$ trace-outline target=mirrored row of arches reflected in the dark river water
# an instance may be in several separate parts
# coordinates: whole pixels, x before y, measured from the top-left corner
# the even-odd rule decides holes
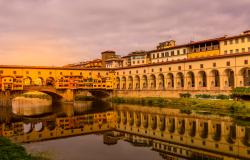
[[[176,118],[166,115],[147,114],[142,112],[117,112],[117,124],[128,128],[144,128],[155,131],[168,132],[170,134],[188,135],[207,139],[211,137],[214,141],[221,141],[222,138],[233,144],[240,137],[244,144],[250,142],[249,128],[245,128],[245,135],[239,134],[234,124],[220,122],[197,121],[196,119]],[[127,128],[126,127],[126,128]],[[132,130],[132,129],[131,129]]]

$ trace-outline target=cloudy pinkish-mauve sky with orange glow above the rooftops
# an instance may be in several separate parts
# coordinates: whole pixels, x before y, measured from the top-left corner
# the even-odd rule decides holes
[[[250,0],[0,0],[0,65],[62,66],[250,29]]]

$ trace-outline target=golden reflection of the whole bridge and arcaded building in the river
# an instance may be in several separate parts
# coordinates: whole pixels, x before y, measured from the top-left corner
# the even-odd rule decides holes
[[[9,120],[0,125],[0,134],[15,142],[33,142],[29,147],[40,144],[35,141],[94,133],[102,135],[103,144],[108,146],[118,147],[122,140],[132,144],[123,146],[126,151],[136,150],[133,146],[143,146],[140,148],[145,153],[150,148],[158,152],[162,159],[250,158],[250,126],[237,125],[230,117],[184,114],[178,109],[157,107],[111,107],[111,104],[102,102],[62,104],[53,106],[52,110],[52,115],[43,117],[22,120],[4,118]],[[78,151],[78,147],[87,141],[92,147],[100,148],[101,145],[94,139],[92,143],[90,140],[79,142],[81,137],[68,141],[75,150],[74,154],[79,157],[90,154],[89,150]],[[57,144],[59,140],[54,141],[53,145],[58,145],[58,148],[67,148],[66,145]],[[42,144],[46,146],[51,143],[46,141]],[[112,151],[115,149],[110,148]],[[115,156],[119,158],[114,153],[107,159],[115,159]],[[128,158],[135,159],[135,156]]]

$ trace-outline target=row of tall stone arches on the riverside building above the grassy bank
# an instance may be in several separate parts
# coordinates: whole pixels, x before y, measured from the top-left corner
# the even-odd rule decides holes
[[[116,89],[173,89],[173,88],[234,88],[235,75],[233,69],[225,69],[220,72],[217,69],[213,69],[210,72],[199,71],[197,73],[188,71],[187,73],[178,72],[168,73],[164,75],[162,73],[156,75],[135,75],[133,76],[122,76],[116,78]],[[250,69],[244,68],[240,71],[239,76],[241,77],[241,86],[250,86]]]

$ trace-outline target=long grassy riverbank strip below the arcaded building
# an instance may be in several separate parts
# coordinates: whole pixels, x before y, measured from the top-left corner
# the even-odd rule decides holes
[[[156,107],[179,108],[182,112],[190,113],[192,110],[203,113],[219,115],[233,115],[250,118],[250,102],[220,99],[197,98],[123,98],[112,97],[109,101],[116,104],[136,104]],[[204,112],[206,111],[206,112]]]

